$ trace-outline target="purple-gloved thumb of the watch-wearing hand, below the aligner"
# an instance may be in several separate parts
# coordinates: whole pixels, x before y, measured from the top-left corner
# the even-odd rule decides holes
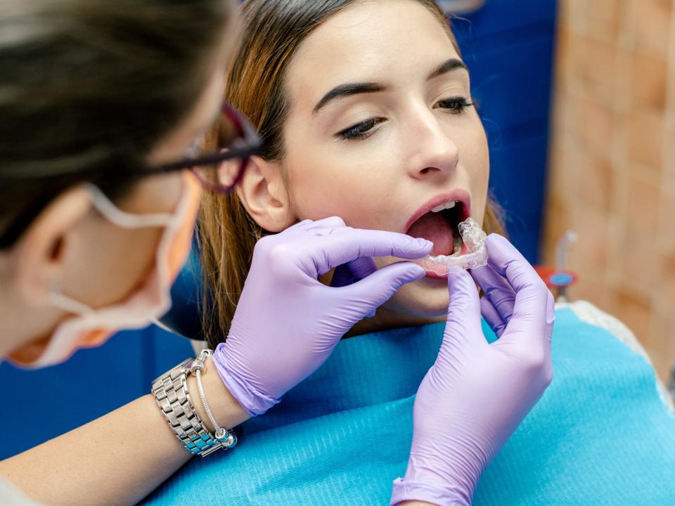
[[[364,318],[373,316],[375,310],[389,300],[400,287],[424,278],[425,274],[424,269],[417,264],[400,261],[384,266],[353,285],[340,288],[340,291],[345,294],[343,300],[352,304],[357,315]]]

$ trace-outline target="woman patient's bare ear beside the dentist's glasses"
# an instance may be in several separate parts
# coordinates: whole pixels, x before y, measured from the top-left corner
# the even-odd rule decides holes
[[[236,188],[248,214],[270,232],[281,232],[296,221],[281,170],[281,162],[251,157]]]

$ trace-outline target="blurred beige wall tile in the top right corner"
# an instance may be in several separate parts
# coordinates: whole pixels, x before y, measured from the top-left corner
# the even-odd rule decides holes
[[[671,0],[633,0],[636,47],[667,58]]]

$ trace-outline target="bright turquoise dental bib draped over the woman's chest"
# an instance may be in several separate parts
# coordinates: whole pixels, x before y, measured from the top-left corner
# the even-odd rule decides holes
[[[239,446],[193,458],[144,504],[388,505],[443,330],[343,340],[281,403],[238,427]],[[485,470],[473,504],[675,505],[675,417],[645,358],[560,309],[553,366],[551,386]]]

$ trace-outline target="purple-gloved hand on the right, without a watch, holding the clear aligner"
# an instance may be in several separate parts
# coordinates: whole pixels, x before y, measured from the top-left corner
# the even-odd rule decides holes
[[[488,265],[448,275],[450,304],[437,360],[413,409],[413,443],[392,505],[418,500],[470,505],[477,481],[551,383],[553,295],[500,235],[486,242]],[[481,308],[499,339],[488,344]]]

